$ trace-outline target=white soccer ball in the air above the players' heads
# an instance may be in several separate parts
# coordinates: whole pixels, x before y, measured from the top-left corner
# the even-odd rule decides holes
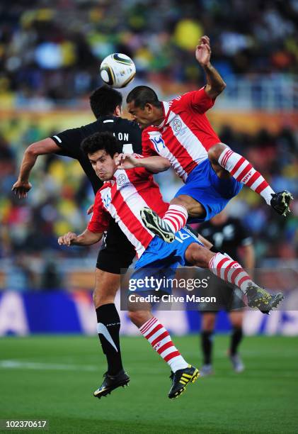
[[[136,69],[130,57],[114,52],[103,59],[100,73],[105,84],[120,89],[134,79]]]

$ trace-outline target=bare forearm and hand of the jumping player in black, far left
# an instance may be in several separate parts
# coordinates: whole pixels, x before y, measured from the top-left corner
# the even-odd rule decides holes
[[[18,194],[20,199],[27,196],[28,191],[32,188],[29,182],[30,172],[35,165],[38,155],[52,154],[59,151],[59,146],[51,138],[45,138],[38,142],[32,143],[25,150],[23,160],[21,162],[20,172],[18,174],[18,181],[13,184],[12,191]]]

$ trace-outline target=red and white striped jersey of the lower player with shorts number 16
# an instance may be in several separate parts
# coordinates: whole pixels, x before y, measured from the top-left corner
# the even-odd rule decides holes
[[[142,155],[133,155],[142,158]],[[160,217],[168,210],[151,172],[143,167],[117,169],[113,179],[105,182],[96,194],[88,230],[104,232],[108,230],[110,218],[115,218],[140,257],[154,238],[154,233],[142,223],[140,211],[144,206]]]

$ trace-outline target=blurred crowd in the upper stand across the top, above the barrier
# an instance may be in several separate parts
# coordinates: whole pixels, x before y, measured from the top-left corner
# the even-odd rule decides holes
[[[205,33],[226,79],[297,74],[297,22],[297,0],[2,0],[1,103],[85,96],[111,52],[130,55],[139,78],[197,87],[194,48]]]

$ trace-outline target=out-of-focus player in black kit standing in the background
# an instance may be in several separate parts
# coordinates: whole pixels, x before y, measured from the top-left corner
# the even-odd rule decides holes
[[[252,238],[239,219],[230,218],[225,211],[222,211],[222,213],[214,216],[211,221],[202,223],[200,233],[213,244],[215,249],[227,253],[236,261],[242,262],[242,265],[252,273],[254,267]],[[212,295],[217,297],[217,307],[229,312],[232,325],[229,358],[234,371],[242,372],[244,365],[238,353],[243,336],[243,310],[241,307],[245,306],[245,304],[242,302],[242,295],[237,295],[233,289],[222,284],[222,281],[219,281],[216,277],[212,279]],[[216,313],[216,311],[202,311],[201,345],[203,365],[200,369],[202,377],[213,372],[212,333],[214,332]]]

